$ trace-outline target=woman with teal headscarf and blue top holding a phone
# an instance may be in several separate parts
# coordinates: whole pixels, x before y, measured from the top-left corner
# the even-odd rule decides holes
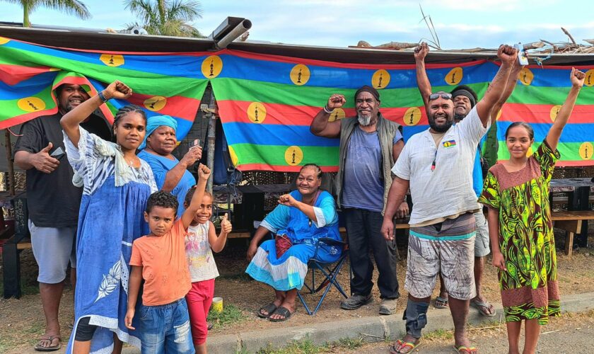
[[[202,157],[202,147],[192,147],[181,161],[177,160],[171,154],[177,147],[176,130],[177,121],[169,115],[149,117],[138,156],[151,166],[157,188],[175,195],[180,202],[177,215],[182,215],[186,192],[196,184],[196,179],[187,169]]]

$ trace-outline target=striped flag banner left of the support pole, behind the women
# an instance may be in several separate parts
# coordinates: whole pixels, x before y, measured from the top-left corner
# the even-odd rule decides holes
[[[152,115],[177,120],[177,137],[192,127],[208,79],[197,63],[206,53],[114,53],[42,47],[0,37],[0,129],[57,113],[54,89],[82,85],[91,96],[120,80],[132,87],[127,100],[101,105],[113,122],[122,105],[139,105]]]

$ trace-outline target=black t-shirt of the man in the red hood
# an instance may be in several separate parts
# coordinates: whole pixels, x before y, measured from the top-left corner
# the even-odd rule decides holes
[[[68,162],[64,148],[64,135],[60,125],[61,113],[44,115],[25,122],[21,126],[15,153],[18,151],[36,154],[53,144],[50,154],[59,147],[64,155],[52,173],[37,169],[27,170],[27,206],[29,219],[37,227],[74,227],[78,222],[78,208],[81,205],[82,188],[72,184],[74,172]],[[107,122],[98,115],[91,115],[81,127],[103,139],[110,139],[111,130]]]

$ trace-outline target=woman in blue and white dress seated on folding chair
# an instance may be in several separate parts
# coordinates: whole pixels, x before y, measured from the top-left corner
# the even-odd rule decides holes
[[[286,321],[296,311],[297,290],[303,287],[308,261],[337,261],[342,247],[322,238],[341,241],[334,198],[320,190],[322,169],[306,164],[299,171],[297,190],[279,198],[279,205],[264,218],[248,249],[248,273],[270,285],[276,293],[274,302],[258,310],[269,321]],[[270,232],[274,239],[258,243]],[[320,241],[322,239],[322,241]]]

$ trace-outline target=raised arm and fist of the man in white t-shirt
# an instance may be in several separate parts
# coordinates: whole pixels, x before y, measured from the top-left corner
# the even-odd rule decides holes
[[[511,68],[514,65],[514,61],[518,59],[518,50],[510,45],[500,45],[497,51],[497,57],[501,59],[501,67],[499,67],[497,74],[487,88],[487,92],[484,93],[484,97],[477,103],[477,113],[479,114],[479,118],[481,118],[483,127],[487,127],[489,124],[491,111],[496,103],[501,100],[503,91],[506,89]]]

